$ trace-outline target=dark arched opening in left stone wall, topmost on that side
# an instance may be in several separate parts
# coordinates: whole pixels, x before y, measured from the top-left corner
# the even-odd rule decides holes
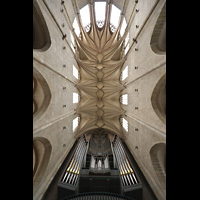
[[[33,49],[46,51],[51,45],[49,31],[36,1],[33,1]]]

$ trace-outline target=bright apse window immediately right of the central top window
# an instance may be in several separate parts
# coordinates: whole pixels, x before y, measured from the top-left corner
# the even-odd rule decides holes
[[[110,28],[112,32],[115,32],[116,28],[118,27],[120,13],[120,9],[112,5],[112,11],[110,16]]]

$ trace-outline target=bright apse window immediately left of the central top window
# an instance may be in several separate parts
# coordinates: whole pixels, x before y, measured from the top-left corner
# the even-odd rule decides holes
[[[90,30],[90,10],[88,5],[80,9],[80,15],[82,25],[85,28],[86,32],[88,32]]]

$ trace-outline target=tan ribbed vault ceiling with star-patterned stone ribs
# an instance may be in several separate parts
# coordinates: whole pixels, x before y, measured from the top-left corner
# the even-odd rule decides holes
[[[106,3],[105,23],[99,28],[95,20],[94,3],[90,2],[90,30],[86,32],[77,21],[80,36],[73,36],[76,46],[76,60],[80,67],[80,80],[76,87],[80,91],[77,114],[80,115],[78,135],[95,128],[104,128],[120,134],[120,116],[124,114],[120,93],[124,86],[120,82],[121,67],[125,61],[123,45],[127,31],[120,36],[124,19],[120,15],[119,25],[113,33],[110,28],[112,3]]]

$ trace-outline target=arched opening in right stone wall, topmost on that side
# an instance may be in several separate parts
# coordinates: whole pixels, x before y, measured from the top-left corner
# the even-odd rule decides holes
[[[166,4],[163,6],[151,37],[151,49],[157,54],[166,52]]]

